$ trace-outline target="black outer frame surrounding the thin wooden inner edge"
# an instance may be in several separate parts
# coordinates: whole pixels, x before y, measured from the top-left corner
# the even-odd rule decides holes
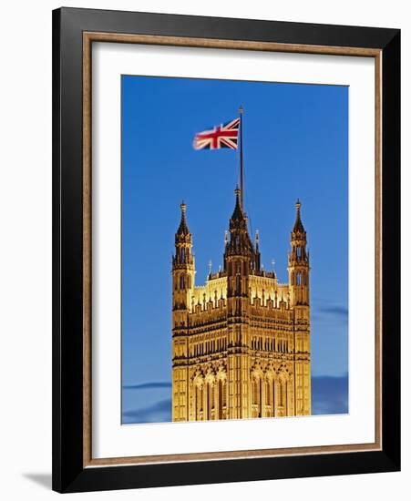
[[[82,32],[383,49],[383,451],[83,468]],[[84,492],[400,468],[400,32],[93,9],[53,11],[53,489]],[[390,291],[388,293],[387,291]]]

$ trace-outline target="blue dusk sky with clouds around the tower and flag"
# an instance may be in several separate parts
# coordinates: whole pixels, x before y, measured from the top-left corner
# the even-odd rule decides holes
[[[244,107],[244,203],[262,263],[287,281],[295,200],[311,257],[313,413],[347,412],[348,87],[123,76],[123,423],[170,420],[170,260],[180,202],[196,283],[222,262],[239,156],[196,132]]]

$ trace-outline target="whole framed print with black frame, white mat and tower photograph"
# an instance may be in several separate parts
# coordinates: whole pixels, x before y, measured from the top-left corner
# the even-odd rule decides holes
[[[53,488],[400,467],[399,30],[53,13]]]

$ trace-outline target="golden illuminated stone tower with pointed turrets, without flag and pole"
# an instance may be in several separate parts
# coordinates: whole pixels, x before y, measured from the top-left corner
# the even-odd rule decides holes
[[[181,204],[172,262],[172,420],[311,414],[309,254],[296,203],[288,283],[263,271],[236,189],[224,265],[195,285]]]

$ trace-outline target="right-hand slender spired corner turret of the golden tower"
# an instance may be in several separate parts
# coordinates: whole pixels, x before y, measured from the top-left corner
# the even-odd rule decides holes
[[[291,232],[291,252],[288,255],[288,276],[291,306],[309,305],[310,262],[307,251],[307,233],[301,220],[301,202],[295,204],[295,222]]]

